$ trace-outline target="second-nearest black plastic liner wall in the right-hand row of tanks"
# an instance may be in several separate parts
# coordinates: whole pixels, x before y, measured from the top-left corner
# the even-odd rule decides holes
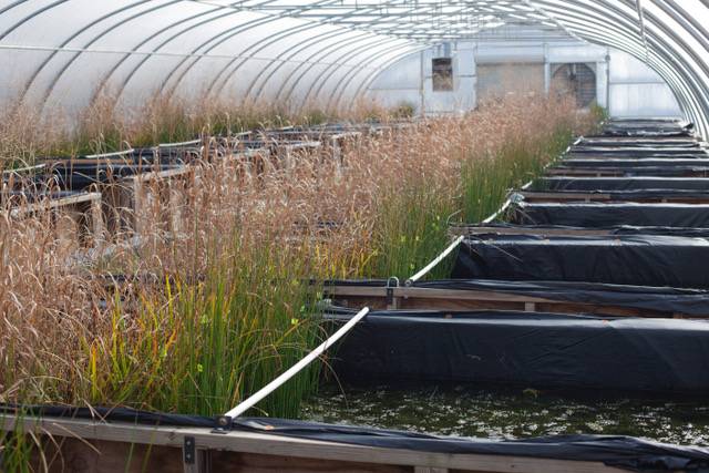
[[[483,235],[461,243],[453,279],[709,288],[706,238]]]

